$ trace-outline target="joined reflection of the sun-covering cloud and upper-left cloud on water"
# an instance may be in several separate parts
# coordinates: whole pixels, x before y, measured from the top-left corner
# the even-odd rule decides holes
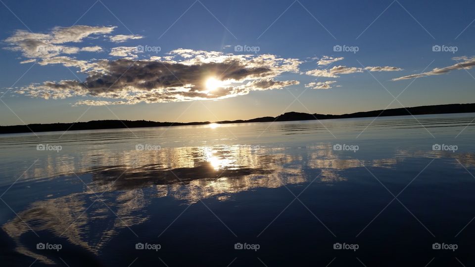
[[[32,230],[65,237],[98,254],[121,229],[149,220],[144,211],[153,198],[173,197],[184,204],[213,196],[224,201],[252,188],[305,182],[302,165],[295,163],[301,157],[283,152],[222,145],[130,150],[120,156],[97,157],[89,151],[76,158],[47,157],[26,174],[27,181],[74,180],[77,175],[88,181],[84,192],[33,202],[2,229],[15,241],[17,252],[45,264],[53,262],[36,253],[33,244],[21,242]]]

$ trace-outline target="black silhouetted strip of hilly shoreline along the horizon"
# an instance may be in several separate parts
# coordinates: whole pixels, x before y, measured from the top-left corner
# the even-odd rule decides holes
[[[285,121],[306,121],[306,120],[329,120],[329,119],[349,119],[366,117],[388,117],[388,116],[407,116],[407,115],[428,115],[428,114],[452,114],[452,113],[471,113],[475,112],[475,103],[472,104],[446,104],[417,106],[410,108],[394,108],[386,110],[373,110],[355,112],[342,115],[331,114],[309,114],[300,112],[287,112],[277,117],[261,117],[250,120],[220,121],[217,124],[230,123],[254,123],[254,122],[285,122]],[[211,122],[153,122],[153,121],[124,121],[124,120],[100,120],[77,123],[52,123],[52,124],[28,124],[0,126],[0,134],[17,133],[40,133],[57,131],[78,131],[78,130],[104,130],[104,129],[122,129],[122,128],[145,128],[145,127],[170,127],[187,125],[207,125]]]

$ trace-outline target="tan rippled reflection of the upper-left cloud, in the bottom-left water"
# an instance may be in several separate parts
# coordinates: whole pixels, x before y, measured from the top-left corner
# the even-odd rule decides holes
[[[45,264],[53,264],[51,259],[36,253],[36,243],[22,242],[22,237],[35,231],[41,236],[66,238],[72,245],[98,254],[121,228],[138,225],[148,216],[142,209],[149,204],[141,189],[130,190],[110,199],[95,194],[75,193],[68,196],[36,201],[5,223],[2,229],[16,244],[15,251],[38,259]],[[108,200],[107,200],[108,199]],[[96,202],[94,202],[96,201]],[[104,201],[105,204],[101,203]],[[107,206],[106,206],[107,205]],[[111,207],[117,216],[114,216]],[[21,218],[21,219],[20,219]],[[47,233],[46,233],[47,232]]]

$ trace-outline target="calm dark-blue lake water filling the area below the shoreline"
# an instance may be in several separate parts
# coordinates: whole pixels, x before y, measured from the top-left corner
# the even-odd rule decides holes
[[[4,134],[1,261],[473,266],[474,117]]]

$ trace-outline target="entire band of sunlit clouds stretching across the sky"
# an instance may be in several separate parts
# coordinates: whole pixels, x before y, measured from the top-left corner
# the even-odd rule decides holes
[[[20,61],[21,64],[60,64],[68,68],[78,68],[81,75],[86,77],[84,81],[79,81],[78,78],[30,84],[17,89],[16,93],[44,99],[79,98],[74,105],[116,105],[216,100],[245,95],[250,91],[282,89],[299,84],[298,81],[280,81],[278,78],[285,73],[299,73],[302,61],[274,54],[235,55],[220,51],[179,48],[163,55],[158,55],[161,49],[157,49],[150,55],[150,51],[144,50],[142,45],[139,45],[142,49],[139,46],[126,45],[104,49],[102,45],[81,44],[85,40],[99,37],[121,44],[144,38],[133,34],[112,35],[115,28],[116,26],[76,25],[55,27],[47,33],[15,31],[4,40],[7,44],[5,49],[20,52],[24,57]],[[80,52],[108,54],[108,57],[85,60],[73,56]],[[318,59],[317,65],[328,66],[343,59],[344,57],[323,56]],[[454,66],[452,67],[457,68]],[[471,65],[467,63],[466,66]],[[434,71],[447,72],[450,68]],[[338,78],[340,75],[364,71],[400,70],[402,69],[390,66],[359,68],[339,65],[329,69],[309,70],[303,74]],[[334,80],[312,82],[305,87],[331,89],[334,83]]]

